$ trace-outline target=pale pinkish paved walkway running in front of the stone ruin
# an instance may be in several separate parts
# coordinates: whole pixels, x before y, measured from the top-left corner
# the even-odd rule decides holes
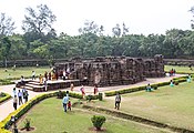
[[[176,74],[175,76],[171,76],[171,78],[147,78],[146,81],[143,81],[143,82],[140,82],[140,83],[136,83],[136,84],[99,88],[99,91],[100,92],[105,92],[105,91],[111,91],[111,90],[122,90],[122,89],[146,85],[147,83],[152,84],[152,83],[166,82],[166,81],[170,81],[170,80],[172,80],[173,78],[176,78],[176,76],[183,76],[183,75]],[[6,92],[6,93],[9,93],[10,95],[12,95],[12,89],[13,88],[14,88],[13,84],[12,85],[2,85],[2,86],[0,86],[0,92]],[[65,90],[70,90],[70,89],[65,89]],[[84,90],[85,90],[86,94],[92,94],[93,93],[93,86],[84,86]],[[74,91],[80,93],[80,86],[75,86]],[[29,92],[29,100],[34,98],[38,94],[49,93],[49,92],[33,92],[33,91],[28,91],[28,92]],[[12,106],[12,99],[1,103],[0,104],[0,121],[6,119],[13,111],[14,111],[14,109]]]

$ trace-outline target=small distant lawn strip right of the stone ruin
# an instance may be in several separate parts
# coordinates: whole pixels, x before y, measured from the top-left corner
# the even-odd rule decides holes
[[[164,71],[169,72],[172,69],[176,70],[176,73],[194,73],[194,68],[193,71],[188,66],[177,66],[177,65],[165,65]]]

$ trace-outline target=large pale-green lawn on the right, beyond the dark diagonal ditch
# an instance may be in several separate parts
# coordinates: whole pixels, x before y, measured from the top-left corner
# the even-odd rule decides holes
[[[121,111],[194,131],[194,81],[122,95]],[[91,103],[114,110],[114,96]]]

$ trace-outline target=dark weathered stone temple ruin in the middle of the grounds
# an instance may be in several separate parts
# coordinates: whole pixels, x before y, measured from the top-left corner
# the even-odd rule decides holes
[[[154,59],[140,59],[130,57],[110,57],[72,59],[63,63],[55,63],[55,69],[70,71],[70,79],[85,81],[86,85],[99,86],[132,84],[145,80],[145,78],[164,76],[163,55]]]

